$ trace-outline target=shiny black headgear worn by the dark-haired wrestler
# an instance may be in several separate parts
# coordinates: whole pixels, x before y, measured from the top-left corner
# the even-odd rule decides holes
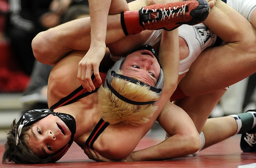
[[[30,110],[26,112],[23,116],[20,117],[20,120],[18,121],[16,125],[16,133],[15,133],[15,138],[16,138],[16,145],[19,143],[19,137],[22,128],[25,126],[32,125],[38,120],[41,120],[42,118],[49,116],[52,114],[53,116],[58,116],[68,127],[68,129],[71,132],[71,137],[69,142],[61,148],[54,156],[52,156],[50,162],[56,162],[58,161],[69,149],[71,144],[73,143],[73,139],[76,133],[76,120],[73,116],[66,114],[66,113],[55,113],[53,112],[52,109],[36,109],[36,110]]]

